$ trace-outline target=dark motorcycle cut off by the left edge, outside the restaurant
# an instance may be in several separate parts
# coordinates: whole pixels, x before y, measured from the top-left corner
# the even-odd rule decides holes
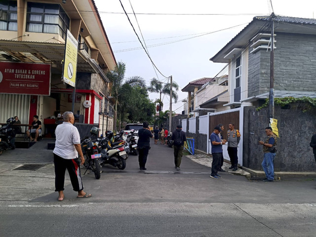
[[[15,130],[12,128],[14,118],[8,118],[6,124],[0,127],[0,155],[8,149],[15,149]]]

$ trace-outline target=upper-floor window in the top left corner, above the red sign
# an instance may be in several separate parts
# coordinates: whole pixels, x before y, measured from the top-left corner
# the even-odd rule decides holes
[[[0,1],[0,30],[1,31],[17,31],[18,30],[18,14],[17,1]]]

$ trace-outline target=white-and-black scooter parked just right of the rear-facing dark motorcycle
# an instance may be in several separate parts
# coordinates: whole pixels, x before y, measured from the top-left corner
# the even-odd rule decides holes
[[[109,131],[112,133],[112,131]],[[123,142],[111,142],[111,133],[99,140],[98,149],[101,154],[101,165],[111,164],[118,169],[125,169],[127,154]]]

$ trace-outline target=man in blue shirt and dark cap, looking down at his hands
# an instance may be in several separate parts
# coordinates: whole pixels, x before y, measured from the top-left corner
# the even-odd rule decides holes
[[[221,128],[219,126],[216,126],[214,127],[214,131],[212,132],[210,136],[213,161],[212,161],[212,171],[209,177],[213,179],[218,179],[219,177],[221,177],[219,174],[217,174],[217,171],[219,170],[221,166],[221,158],[223,155],[222,145],[226,143],[225,141],[221,141],[221,139],[218,136],[218,134],[221,131],[222,131]]]

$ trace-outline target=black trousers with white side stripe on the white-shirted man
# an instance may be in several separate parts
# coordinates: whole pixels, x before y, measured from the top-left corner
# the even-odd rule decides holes
[[[54,154],[55,165],[55,191],[64,191],[65,172],[68,170],[71,184],[74,191],[79,192],[83,190],[83,185],[80,175],[80,162],[78,158],[64,159]]]

